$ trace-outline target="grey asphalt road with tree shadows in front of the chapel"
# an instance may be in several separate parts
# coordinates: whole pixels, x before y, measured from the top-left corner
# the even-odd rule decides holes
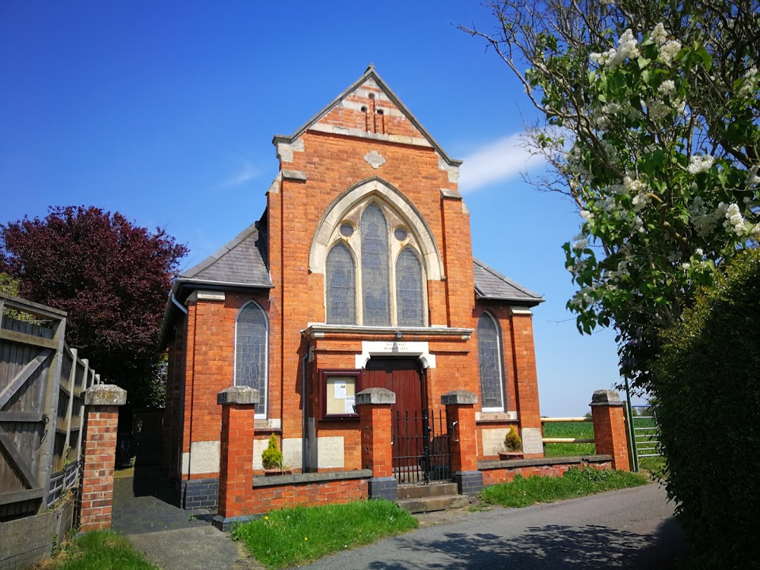
[[[670,568],[686,549],[657,484],[535,505],[425,515],[401,537],[306,568]]]

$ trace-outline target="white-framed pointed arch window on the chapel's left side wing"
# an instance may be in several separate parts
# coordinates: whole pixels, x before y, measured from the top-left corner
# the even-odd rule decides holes
[[[249,301],[240,309],[235,324],[235,385],[258,390],[256,417],[265,417],[267,411],[268,341],[267,315]]]

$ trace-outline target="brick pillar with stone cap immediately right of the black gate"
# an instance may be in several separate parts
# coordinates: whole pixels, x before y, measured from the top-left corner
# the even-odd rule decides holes
[[[441,396],[451,429],[451,470],[461,495],[473,496],[483,489],[483,473],[477,468],[475,404],[477,396],[452,390]]]

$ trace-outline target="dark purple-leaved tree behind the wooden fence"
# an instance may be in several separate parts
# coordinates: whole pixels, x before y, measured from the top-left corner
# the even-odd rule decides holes
[[[161,320],[187,252],[164,230],[97,207],[50,207],[42,219],[0,225],[0,271],[24,298],[66,311],[68,344],[136,406],[163,402]]]

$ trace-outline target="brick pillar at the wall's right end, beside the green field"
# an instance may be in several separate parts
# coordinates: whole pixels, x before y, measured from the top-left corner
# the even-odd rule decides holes
[[[628,436],[619,394],[614,390],[597,390],[591,397],[591,416],[594,418],[594,442],[598,455],[611,455],[613,469],[630,470]]]

